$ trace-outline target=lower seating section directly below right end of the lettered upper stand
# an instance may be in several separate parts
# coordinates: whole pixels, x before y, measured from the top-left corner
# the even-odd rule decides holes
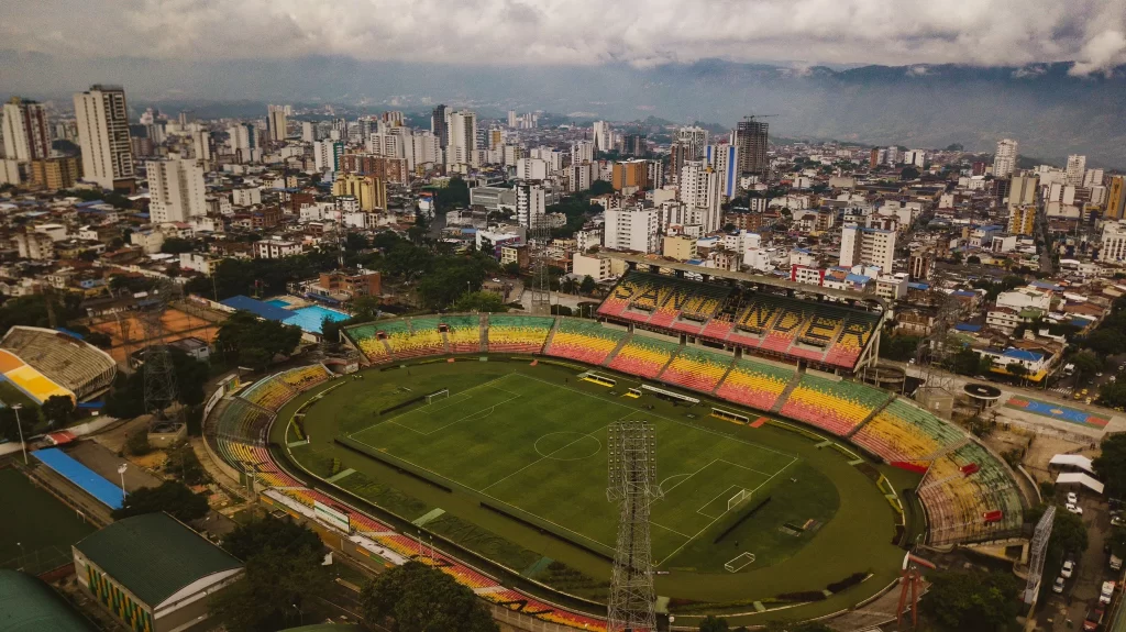
[[[789,394],[781,414],[843,436],[887,398],[886,390],[806,374]]]

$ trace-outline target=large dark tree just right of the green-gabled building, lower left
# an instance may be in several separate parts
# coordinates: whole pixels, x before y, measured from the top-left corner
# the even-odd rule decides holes
[[[232,632],[267,632],[296,624],[305,599],[323,595],[330,584],[322,566],[324,545],[316,534],[292,520],[266,516],[239,525],[223,548],[247,562],[242,579],[211,603]]]

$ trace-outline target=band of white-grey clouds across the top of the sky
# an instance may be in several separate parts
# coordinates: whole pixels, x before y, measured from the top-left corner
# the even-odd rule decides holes
[[[1126,0],[0,0],[0,48],[645,66],[1126,64]]]

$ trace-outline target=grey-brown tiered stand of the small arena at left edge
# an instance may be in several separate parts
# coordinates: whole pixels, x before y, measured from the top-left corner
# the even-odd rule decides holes
[[[109,354],[54,329],[11,327],[0,340],[0,347],[79,399],[108,388],[117,374],[117,364]]]

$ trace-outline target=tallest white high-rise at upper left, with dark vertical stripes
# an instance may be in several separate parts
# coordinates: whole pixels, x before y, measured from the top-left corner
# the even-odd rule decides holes
[[[119,85],[91,85],[74,94],[78,144],[82,148],[82,178],[102,189],[135,187],[128,106]]]

